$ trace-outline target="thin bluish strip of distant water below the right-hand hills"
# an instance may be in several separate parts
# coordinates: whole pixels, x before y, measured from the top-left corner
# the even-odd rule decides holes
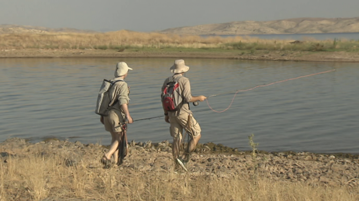
[[[236,35],[221,35],[221,37],[233,37]],[[242,37],[251,37],[259,39],[273,39],[273,40],[359,40],[359,33],[324,33],[324,34],[252,34],[239,35]],[[208,36],[204,36],[208,37]]]

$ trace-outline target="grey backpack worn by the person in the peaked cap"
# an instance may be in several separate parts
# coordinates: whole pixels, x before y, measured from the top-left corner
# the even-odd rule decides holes
[[[96,110],[95,110],[96,114],[101,116],[108,116],[108,111],[115,103],[117,103],[116,100],[111,103],[112,100],[110,98],[109,90],[113,86],[113,84],[118,81],[123,81],[123,80],[116,80],[113,82],[107,79],[103,80],[99,91],[99,95],[97,97]]]

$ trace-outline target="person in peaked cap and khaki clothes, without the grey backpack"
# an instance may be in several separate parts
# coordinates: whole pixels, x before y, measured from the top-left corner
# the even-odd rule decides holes
[[[122,123],[126,120],[129,124],[133,122],[128,111],[129,87],[124,81],[129,70],[132,70],[132,68],[128,67],[125,62],[117,63],[115,77],[109,80],[110,86],[107,88],[107,93],[104,95],[105,98],[108,98],[109,104],[106,104],[105,112],[100,114],[97,113],[101,115],[100,121],[104,124],[105,130],[110,132],[112,136],[110,149],[101,158],[101,162],[105,165],[110,163],[112,155],[114,156],[114,162],[118,163],[118,146],[121,143],[122,135],[124,135]],[[125,150],[125,152],[126,151],[127,150]],[[125,155],[126,154],[127,153],[125,153]]]

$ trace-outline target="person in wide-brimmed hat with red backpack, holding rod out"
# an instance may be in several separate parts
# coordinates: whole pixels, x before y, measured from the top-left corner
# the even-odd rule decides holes
[[[201,138],[201,128],[193,118],[189,109],[189,103],[202,102],[205,96],[192,96],[189,79],[184,77],[184,73],[189,70],[183,59],[175,60],[170,71],[174,75],[168,77],[162,86],[161,100],[165,112],[165,121],[170,123],[170,134],[173,137],[172,154],[180,166],[185,170],[184,163],[188,161],[189,154],[195,149]],[[188,147],[180,155],[180,142],[183,138],[183,129],[188,133],[190,141]]]

